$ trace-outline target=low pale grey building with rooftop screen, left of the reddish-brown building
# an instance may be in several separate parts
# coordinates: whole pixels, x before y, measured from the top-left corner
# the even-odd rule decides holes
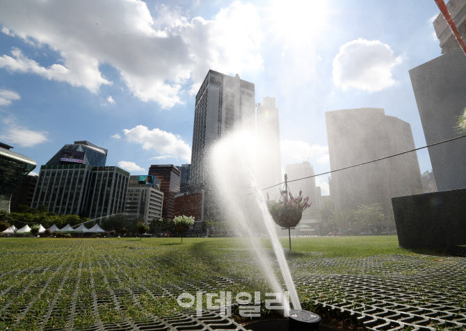
[[[152,178],[147,182],[145,177]],[[154,176],[130,176],[125,206],[127,216],[143,218],[145,222],[162,218],[163,192],[160,186],[161,180]]]

